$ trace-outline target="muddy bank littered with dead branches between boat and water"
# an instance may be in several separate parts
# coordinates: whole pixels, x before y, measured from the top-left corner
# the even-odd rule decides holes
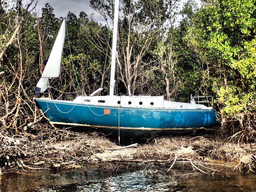
[[[2,131],[0,174],[59,171],[88,164],[104,165],[106,169],[154,166],[156,171],[164,168],[165,172],[186,165],[196,174],[213,174],[233,166],[236,172],[255,173],[255,143],[236,144],[217,135],[155,137],[118,143],[100,133],[67,129],[33,129],[17,135]],[[229,162],[237,162],[237,166]]]

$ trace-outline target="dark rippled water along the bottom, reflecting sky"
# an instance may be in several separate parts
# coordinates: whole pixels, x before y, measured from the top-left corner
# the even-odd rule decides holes
[[[149,170],[154,172],[154,170]],[[174,171],[175,174],[183,174],[184,171]],[[174,173],[173,172],[173,173]],[[81,174],[83,173],[83,174]],[[219,173],[214,176],[199,176],[181,180],[174,174],[147,174],[145,170],[134,170],[113,173],[104,169],[88,169],[87,175],[83,169],[68,170],[62,172],[29,172],[10,173],[0,176],[0,191],[3,192],[59,192],[59,191],[256,191],[256,176],[246,173]],[[228,176],[227,176],[228,175]]]

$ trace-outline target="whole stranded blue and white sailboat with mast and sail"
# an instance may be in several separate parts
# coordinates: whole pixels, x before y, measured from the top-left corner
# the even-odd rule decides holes
[[[155,133],[165,135],[190,132],[196,128],[220,126],[213,108],[199,104],[193,98],[190,103],[182,103],[164,100],[164,96],[114,94],[118,8],[119,1],[116,0],[109,95],[98,96],[102,90],[100,88],[89,96],[77,96],[71,101],[51,97],[36,98],[36,103],[50,122],[107,134],[118,133],[126,138],[144,137]],[[64,36],[65,21],[37,84],[40,93],[49,87],[49,78],[59,76]]]

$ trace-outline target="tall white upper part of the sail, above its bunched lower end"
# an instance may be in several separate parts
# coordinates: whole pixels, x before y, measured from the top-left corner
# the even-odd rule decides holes
[[[42,77],[52,78],[52,77],[58,77],[60,75],[60,63],[61,63],[64,40],[65,40],[65,20],[63,20],[62,22],[60,31],[58,33],[58,36],[56,37],[56,40],[52,47],[51,54],[44,68]]]

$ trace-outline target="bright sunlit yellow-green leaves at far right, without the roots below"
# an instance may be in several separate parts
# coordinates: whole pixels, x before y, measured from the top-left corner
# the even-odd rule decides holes
[[[255,1],[222,0],[215,7],[204,6],[193,30],[193,42],[220,64],[221,78],[214,89],[229,115],[246,112],[255,101],[255,27]]]

